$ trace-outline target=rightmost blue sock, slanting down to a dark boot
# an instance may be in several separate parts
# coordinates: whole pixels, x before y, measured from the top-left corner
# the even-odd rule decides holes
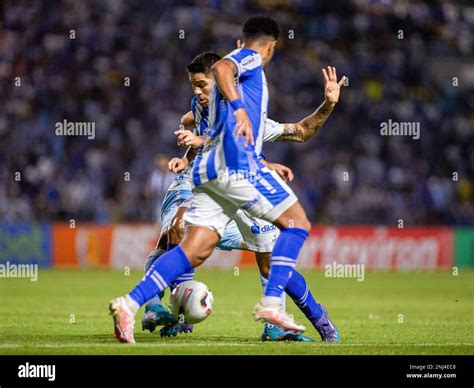
[[[321,318],[323,309],[314,300],[304,277],[298,271],[293,270],[285,291],[313,325]]]

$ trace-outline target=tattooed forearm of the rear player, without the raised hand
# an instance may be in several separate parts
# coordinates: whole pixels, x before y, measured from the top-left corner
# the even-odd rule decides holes
[[[282,135],[275,141],[308,141],[323,126],[333,109],[334,105],[323,102],[318,109],[298,123],[284,124]]]

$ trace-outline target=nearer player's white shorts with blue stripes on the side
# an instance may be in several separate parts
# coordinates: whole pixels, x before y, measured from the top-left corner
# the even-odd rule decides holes
[[[252,180],[236,173],[195,187],[184,220],[189,225],[206,226],[223,236],[228,222],[239,209],[272,223],[297,200],[278,174],[264,167]]]

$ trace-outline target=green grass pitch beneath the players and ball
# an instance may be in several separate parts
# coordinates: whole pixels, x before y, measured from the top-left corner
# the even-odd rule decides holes
[[[140,271],[41,270],[37,282],[0,279],[0,354],[474,354],[472,270],[368,271],[363,282],[303,274],[339,327],[340,344],[319,342],[289,298],[289,312],[318,342],[260,342],[262,324],[251,316],[261,293],[257,270],[203,269],[196,280],[211,288],[215,304],[194,333],[142,332],[141,310],[137,344],[123,345],[113,337],[108,302],[128,292]]]

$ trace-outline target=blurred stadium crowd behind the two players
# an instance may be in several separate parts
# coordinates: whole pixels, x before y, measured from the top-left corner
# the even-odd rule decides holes
[[[7,1],[0,219],[153,221],[165,158],[184,152],[185,65],[230,51],[256,13],[282,30],[269,117],[312,112],[323,66],[349,77],[314,139],[267,147],[313,222],[474,225],[474,7],[396,0]],[[56,136],[64,119],[95,138]],[[389,119],[420,123],[420,139],[381,136]]]

